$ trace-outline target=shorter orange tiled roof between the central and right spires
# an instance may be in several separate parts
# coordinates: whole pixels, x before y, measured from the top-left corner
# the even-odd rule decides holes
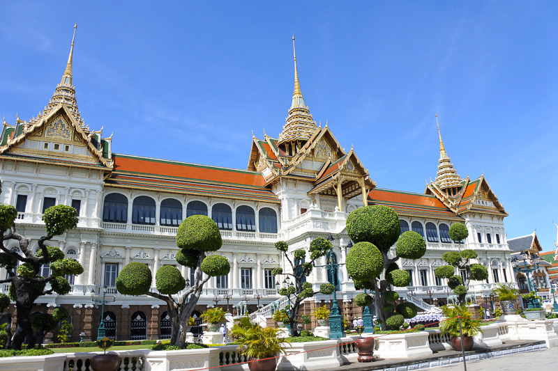
[[[368,205],[386,205],[392,207],[400,216],[418,216],[423,218],[463,221],[438,200],[435,196],[413,192],[393,191],[376,188],[368,194]]]

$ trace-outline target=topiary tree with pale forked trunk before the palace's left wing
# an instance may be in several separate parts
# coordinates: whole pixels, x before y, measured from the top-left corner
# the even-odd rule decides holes
[[[116,277],[116,290],[121,294],[149,295],[165,301],[171,324],[170,345],[182,347],[186,342],[188,320],[202,294],[204,283],[211,277],[224,276],[230,271],[227,258],[207,255],[211,251],[218,251],[222,245],[219,228],[211,218],[204,215],[190,216],[184,219],[176,233],[176,246],[180,248],[176,253],[176,262],[195,269],[194,282],[186,287],[186,280],[180,270],[168,265],[158,269],[155,275],[158,292],[152,292],[149,291],[152,279],[149,267],[130,262]],[[202,272],[206,274],[205,278],[202,278]],[[179,297],[173,296],[185,288],[186,291]]]

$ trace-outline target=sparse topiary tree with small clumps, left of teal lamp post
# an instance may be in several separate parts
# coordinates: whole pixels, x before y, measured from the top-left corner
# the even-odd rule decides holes
[[[289,245],[287,242],[276,242],[275,247],[281,252],[285,261],[290,265],[290,271],[292,273],[283,273],[282,268],[273,269],[271,273],[273,276],[284,274],[287,277],[293,278],[293,282],[289,287],[282,287],[279,290],[279,294],[288,297],[290,302],[285,311],[287,319],[284,322],[289,324],[291,336],[300,336],[296,324],[299,319],[299,310],[302,301],[306,298],[313,297],[318,292],[329,295],[335,290],[331,283],[323,283],[320,285],[319,291],[314,291],[312,289],[312,283],[304,282],[305,278],[312,273],[314,262],[329,253],[333,246],[331,242],[324,237],[317,237],[317,239],[310,242],[310,261],[308,262],[306,262],[306,250],[303,248],[299,248],[293,251],[292,255],[289,255]],[[310,317],[303,316],[303,323],[310,323]]]

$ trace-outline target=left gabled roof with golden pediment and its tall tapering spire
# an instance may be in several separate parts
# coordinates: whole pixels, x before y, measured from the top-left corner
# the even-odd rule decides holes
[[[0,155],[20,157],[29,161],[48,159],[63,164],[75,163],[84,166],[104,166],[112,168],[112,136],[101,138],[103,129],[93,132],[84,125],[80,111],[77,109],[75,87],[72,80],[73,46],[75,30],[70,47],[68,63],[62,75],[61,83],[56,86],[48,106],[31,118],[29,122],[15,120],[9,125],[4,120],[0,137]],[[33,139],[31,139],[33,137]],[[45,141],[56,142],[58,150],[47,148]],[[26,144],[27,143],[27,144]],[[40,148],[40,143],[45,144]],[[66,150],[66,148],[68,150]],[[77,148],[77,151],[71,151]],[[82,150],[85,148],[85,150]]]

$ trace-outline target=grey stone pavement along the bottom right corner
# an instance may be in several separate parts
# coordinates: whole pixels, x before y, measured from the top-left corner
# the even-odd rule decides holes
[[[544,341],[507,341],[497,347],[473,348],[471,351],[465,352],[465,356],[467,371],[558,370],[558,347],[547,349]],[[510,361],[511,357],[513,357],[513,361]],[[516,361],[519,359],[522,361]],[[421,358],[377,359],[371,363],[351,363],[327,370],[410,371],[431,368],[439,368],[444,371],[463,370],[461,352],[446,350]]]

